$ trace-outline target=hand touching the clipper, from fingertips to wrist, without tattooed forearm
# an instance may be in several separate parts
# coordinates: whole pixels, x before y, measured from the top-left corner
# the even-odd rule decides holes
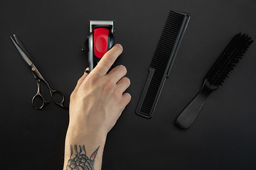
[[[107,135],[131,96],[124,91],[129,87],[127,69],[123,65],[108,70],[122,53],[121,45],[114,45],[92,69],[79,80],[70,96],[69,130],[80,134]]]

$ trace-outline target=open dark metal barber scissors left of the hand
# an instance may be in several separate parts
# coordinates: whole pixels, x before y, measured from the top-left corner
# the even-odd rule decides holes
[[[25,48],[23,47],[21,42],[18,40],[17,36],[14,35],[14,38],[12,38],[10,36],[10,38],[14,42],[14,45],[16,46],[18,52],[21,54],[21,57],[23,58],[23,60],[25,60],[26,64],[28,64],[28,67],[31,69],[33,77],[35,77],[35,79],[36,79],[38,89],[37,89],[36,95],[33,96],[33,98],[32,98],[33,107],[36,109],[41,109],[47,103],[50,103],[50,101],[46,101],[46,99],[43,97],[43,95],[41,94],[41,91],[40,91],[40,82],[43,81],[48,86],[48,89],[50,91],[50,96],[51,96],[53,102],[62,108],[67,108],[67,107],[63,106],[64,94],[61,91],[57,91],[57,90],[50,88],[50,85],[48,84],[48,82],[45,79],[43,79],[42,74],[38,71],[35,64],[33,64],[33,62],[29,59],[28,52],[26,52]],[[55,96],[55,98],[54,98],[54,96]],[[59,102],[59,100],[57,101],[56,96],[62,96],[62,101],[60,101],[60,102]],[[43,102],[41,103],[41,105],[38,106],[38,103],[35,103],[36,98],[42,99]]]

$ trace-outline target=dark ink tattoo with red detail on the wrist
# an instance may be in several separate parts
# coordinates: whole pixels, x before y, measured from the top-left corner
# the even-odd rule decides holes
[[[85,152],[85,145],[82,145],[82,147],[79,145],[79,148],[77,145],[74,145],[73,147],[72,145],[70,145],[71,155],[70,159],[68,159],[67,170],[94,170],[93,164],[95,162],[95,157],[98,149],[99,147],[95,150],[95,152],[92,153],[90,158],[88,158]]]

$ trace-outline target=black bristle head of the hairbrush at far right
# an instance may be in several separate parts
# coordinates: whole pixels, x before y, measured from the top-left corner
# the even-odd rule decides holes
[[[252,38],[248,35],[243,33],[235,35],[206,76],[210,85],[221,86],[224,83],[252,42]]]

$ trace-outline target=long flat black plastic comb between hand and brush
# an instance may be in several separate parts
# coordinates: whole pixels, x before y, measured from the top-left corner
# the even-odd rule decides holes
[[[170,11],[149,66],[142,95],[136,109],[138,115],[151,118],[166,78],[169,77],[178,47],[188,26],[188,13]]]

